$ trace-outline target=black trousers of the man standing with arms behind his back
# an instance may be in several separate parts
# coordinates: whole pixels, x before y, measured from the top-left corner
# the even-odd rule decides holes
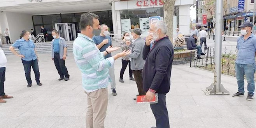
[[[54,64],[61,78],[64,78],[64,76],[69,78],[68,69],[65,66],[65,60],[60,59],[59,53],[54,53]]]

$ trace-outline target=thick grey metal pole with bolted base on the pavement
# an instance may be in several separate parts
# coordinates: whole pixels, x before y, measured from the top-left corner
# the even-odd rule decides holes
[[[210,95],[229,94],[229,92],[221,85],[221,46],[222,46],[222,19],[223,19],[223,0],[216,0],[216,37],[214,45],[214,83],[206,88]]]

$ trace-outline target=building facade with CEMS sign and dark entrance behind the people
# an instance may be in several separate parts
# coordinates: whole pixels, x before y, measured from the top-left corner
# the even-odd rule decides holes
[[[189,34],[189,7],[193,4],[195,0],[175,1],[174,28],[179,27],[184,35]],[[9,28],[11,42],[19,39],[24,29],[40,33],[40,26],[47,29],[47,40],[53,38],[51,31],[57,28],[67,29],[63,34],[77,35],[81,31],[79,19],[84,12],[97,14],[100,23],[107,24],[117,35],[134,27],[146,33],[149,17],[164,18],[163,0],[1,0],[0,33]]]

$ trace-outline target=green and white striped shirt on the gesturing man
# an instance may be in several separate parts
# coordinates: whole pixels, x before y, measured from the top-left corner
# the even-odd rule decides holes
[[[110,80],[109,67],[114,66],[114,58],[104,59],[91,38],[78,33],[73,43],[75,62],[82,72],[82,87],[86,92],[107,88]]]

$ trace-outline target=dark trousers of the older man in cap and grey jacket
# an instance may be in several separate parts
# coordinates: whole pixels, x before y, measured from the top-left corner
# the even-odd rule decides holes
[[[146,92],[144,92],[143,90],[143,84],[142,84],[143,82],[142,69],[138,71],[133,70],[133,75],[134,75],[135,82],[137,84],[139,95],[146,95]]]

